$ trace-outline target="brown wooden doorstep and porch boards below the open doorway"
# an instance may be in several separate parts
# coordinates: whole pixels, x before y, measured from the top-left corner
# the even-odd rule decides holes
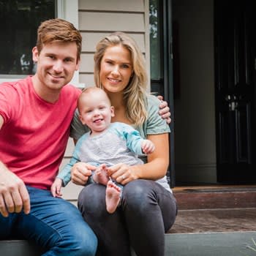
[[[256,186],[176,187],[173,193],[178,216],[168,233],[256,231]]]

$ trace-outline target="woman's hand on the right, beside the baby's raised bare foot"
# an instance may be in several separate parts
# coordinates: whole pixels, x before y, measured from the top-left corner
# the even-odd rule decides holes
[[[135,166],[122,163],[108,167],[108,176],[122,185],[139,178],[136,174]]]

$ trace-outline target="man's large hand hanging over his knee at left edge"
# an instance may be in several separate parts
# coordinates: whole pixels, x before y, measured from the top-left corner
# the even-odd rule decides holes
[[[29,192],[24,182],[0,162],[0,213],[8,217],[22,210],[30,212]]]

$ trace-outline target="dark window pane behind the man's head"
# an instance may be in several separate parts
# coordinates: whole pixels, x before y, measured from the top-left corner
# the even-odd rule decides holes
[[[34,73],[31,49],[42,20],[56,17],[55,0],[0,0],[0,75]]]

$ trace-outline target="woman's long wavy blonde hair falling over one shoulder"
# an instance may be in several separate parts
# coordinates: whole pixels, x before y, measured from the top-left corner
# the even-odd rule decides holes
[[[133,74],[124,89],[124,105],[126,106],[126,117],[129,121],[136,126],[141,126],[147,118],[146,86],[148,78],[143,54],[132,37],[123,32],[115,32],[98,42],[94,53],[94,82],[97,87],[104,89],[99,77],[100,64],[105,50],[115,45],[122,45],[131,53]]]

